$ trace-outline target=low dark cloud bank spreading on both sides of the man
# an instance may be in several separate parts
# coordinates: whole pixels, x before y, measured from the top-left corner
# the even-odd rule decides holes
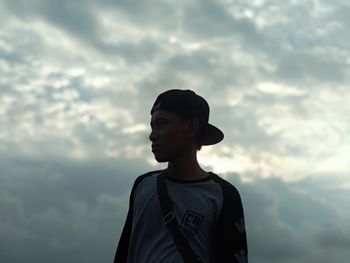
[[[2,158],[1,165],[0,258],[13,262],[111,261],[132,182],[148,167],[141,160],[58,158]],[[350,214],[341,199],[348,190],[339,194],[317,178],[225,178],[241,193],[252,261],[316,262],[334,255],[341,262],[348,256]]]

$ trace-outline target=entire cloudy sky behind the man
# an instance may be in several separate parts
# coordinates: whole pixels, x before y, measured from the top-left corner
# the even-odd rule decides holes
[[[0,262],[112,262],[158,94],[225,138],[252,263],[350,257],[346,0],[0,0]]]

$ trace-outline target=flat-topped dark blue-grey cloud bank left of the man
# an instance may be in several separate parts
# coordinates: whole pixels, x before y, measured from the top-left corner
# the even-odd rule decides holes
[[[147,165],[2,155],[1,167],[1,262],[108,262]]]

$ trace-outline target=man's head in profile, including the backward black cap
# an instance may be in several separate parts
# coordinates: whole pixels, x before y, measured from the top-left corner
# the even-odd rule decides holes
[[[149,139],[152,145],[160,145],[153,150],[158,161],[169,161],[183,151],[200,150],[202,145],[216,144],[224,137],[208,123],[208,103],[191,90],[163,92],[154,102],[151,115]]]

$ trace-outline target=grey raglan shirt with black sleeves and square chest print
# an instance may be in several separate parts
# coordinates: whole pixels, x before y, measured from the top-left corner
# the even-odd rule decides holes
[[[163,221],[160,171],[135,180],[114,263],[184,262]],[[179,228],[202,262],[248,262],[242,202],[232,184],[212,172],[196,180],[166,177],[166,184]]]

